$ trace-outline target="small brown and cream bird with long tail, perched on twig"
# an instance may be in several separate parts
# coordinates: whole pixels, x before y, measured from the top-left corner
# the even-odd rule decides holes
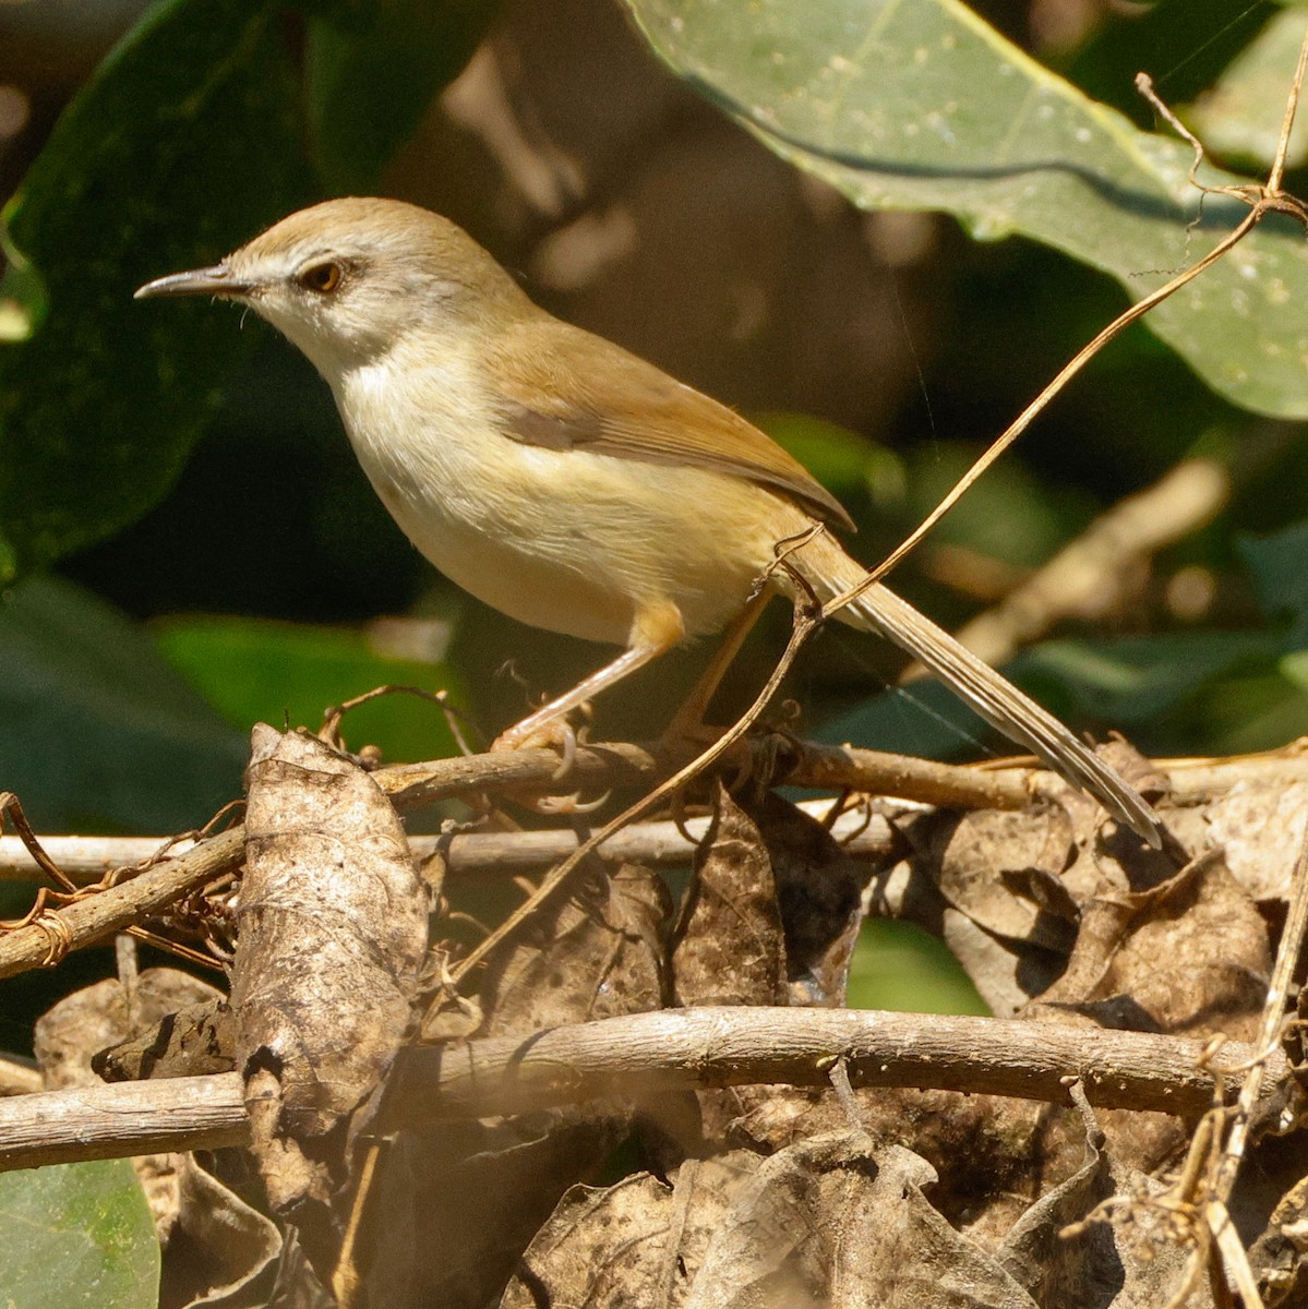
[[[735,410],[539,308],[462,228],[401,200],[300,209],[137,298],[237,301],[331,389],[368,480],[452,581],[621,654],[499,738],[534,744],[674,645],[748,623],[759,579],[829,601],[865,580],[845,508]],[[786,565],[776,567],[780,552]],[[1144,798],[888,586],[835,617],[889,639],[1152,846]]]

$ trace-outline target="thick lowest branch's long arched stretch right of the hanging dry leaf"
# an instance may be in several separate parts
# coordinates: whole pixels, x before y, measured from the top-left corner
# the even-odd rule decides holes
[[[1241,1050],[1244,1047],[1240,1047]],[[1198,1117],[1212,1107],[1202,1041],[1007,1018],[856,1009],[663,1009],[541,1031],[410,1050],[393,1102],[405,1122],[640,1098],[672,1089],[829,1083],[846,1060],[855,1086],[924,1086],[1067,1103],[1076,1077],[1092,1103]],[[1226,1046],[1223,1066],[1237,1066]],[[1233,1097],[1239,1075],[1227,1075]]]

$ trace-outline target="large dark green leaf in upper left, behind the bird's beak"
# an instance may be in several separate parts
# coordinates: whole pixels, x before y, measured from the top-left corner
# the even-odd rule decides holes
[[[492,9],[160,0],[123,38],[3,215],[0,586],[158,501],[255,339],[232,313],[132,291],[211,263],[323,181],[371,187]]]

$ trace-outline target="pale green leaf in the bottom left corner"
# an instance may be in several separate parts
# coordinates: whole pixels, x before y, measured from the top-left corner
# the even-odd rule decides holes
[[[126,1158],[0,1174],[0,1305],[153,1309],[158,1240]]]

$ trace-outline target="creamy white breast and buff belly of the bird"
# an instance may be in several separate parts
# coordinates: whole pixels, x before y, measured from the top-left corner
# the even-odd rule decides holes
[[[699,469],[547,450],[496,431],[475,361],[355,369],[334,386],[368,479],[443,573],[536,627],[625,644],[643,606],[716,631],[772,558],[761,488]],[[748,509],[741,521],[742,490]],[[724,524],[715,503],[731,500]],[[757,521],[755,521],[757,520]]]

